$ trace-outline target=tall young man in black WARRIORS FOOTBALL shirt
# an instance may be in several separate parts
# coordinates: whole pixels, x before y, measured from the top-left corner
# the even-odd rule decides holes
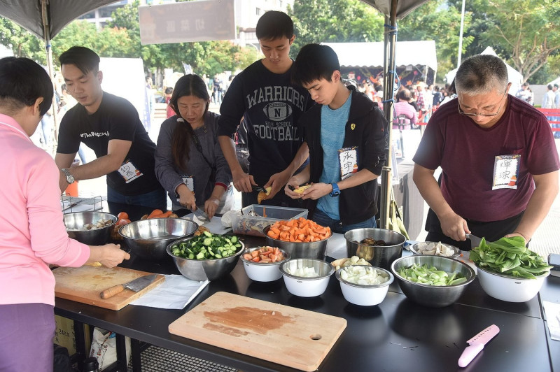
[[[271,187],[263,204],[299,207],[281,191],[288,179],[307,164],[309,150],[298,122],[312,104],[304,87],[293,85],[289,57],[295,35],[283,12],[270,10],[258,20],[256,34],[265,58],[233,79],[220,106],[218,141],[232,171],[233,185],[242,192],[243,206],[258,202],[252,186]],[[237,160],[232,136],[241,117],[247,128],[248,172]]]

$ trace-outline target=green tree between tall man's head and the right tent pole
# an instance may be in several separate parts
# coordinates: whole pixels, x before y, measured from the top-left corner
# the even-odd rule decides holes
[[[308,43],[383,40],[384,16],[358,0],[295,1],[288,15],[295,29],[293,56]]]

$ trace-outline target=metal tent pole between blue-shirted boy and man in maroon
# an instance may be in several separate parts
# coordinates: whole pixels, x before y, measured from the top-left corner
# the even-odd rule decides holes
[[[381,171],[381,206],[380,206],[380,227],[388,229],[390,216],[389,207],[391,206],[391,187],[393,187],[391,168],[391,152],[393,139],[391,132],[393,129],[393,86],[395,84],[395,40],[397,36],[397,3],[398,0],[391,1],[391,15],[385,16],[385,59],[384,59],[384,103],[383,109],[387,120],[388,149],[387,164]]]

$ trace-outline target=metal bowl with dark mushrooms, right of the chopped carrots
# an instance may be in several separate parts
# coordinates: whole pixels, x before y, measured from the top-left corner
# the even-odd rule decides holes
[[[346,231],[347,257],[358,256],[372,264],[372,266],[389,270],[395,259],[402,255],[402,245],[407,238],[393,230],[363,228]],[[376,241],[382,240],[387,245],[365,245],[359,243],[365,238],[374,238]],[[356,243],[358,242],[358,243]]]

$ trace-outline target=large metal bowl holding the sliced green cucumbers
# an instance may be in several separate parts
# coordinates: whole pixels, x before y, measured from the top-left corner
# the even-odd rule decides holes
[[[190,280],[218,280],[225,275],[228,275],[237,265],[239,256],[245,250],[245,245],[242,241],[241,248],[238,248],[235,255],[225,258],[218,259],[188,259],[183,257],[177,257],[171,252],[172,246],[176,244],[181,244],[185,241],[190,241],[193,237],[181,239],[179,241],[174,241],[167,245],[167,255],[173,258],[177,269],[183,274],[187,279]]]

